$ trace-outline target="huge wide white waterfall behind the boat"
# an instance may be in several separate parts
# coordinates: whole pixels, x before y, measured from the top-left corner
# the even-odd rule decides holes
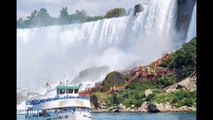
[[[17,84],[72,80],[84,69],[149,64],[174,50],[176,0],[152,0],[138,16],[17,29]]]

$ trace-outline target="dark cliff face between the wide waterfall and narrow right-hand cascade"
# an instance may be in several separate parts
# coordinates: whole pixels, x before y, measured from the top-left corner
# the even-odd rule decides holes
[[[178,40],[185,42],[196,0],[178,0],[177,3],[176,28],[179,34]]]

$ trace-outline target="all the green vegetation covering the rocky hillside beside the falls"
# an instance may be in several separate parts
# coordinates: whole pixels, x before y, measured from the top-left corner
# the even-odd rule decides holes
[[[161,64],[161,67],[174,68],[175,73],[163,74],[159,77],[148,79],[134,79],[125,90],[114,94],[106,94],[112,86],[125,84],[131,75],[124,75],[119,72],[109,73],[103,80],[100,91],[92,96],[104,101],[108,108],[116,107],[119,104],[129,108],[139,108],[143,103],[169,103],[171,106],[180,108],[182,106],[196,107],[196,90],[180,89],[167,93],[164,88],[171,86],[189,77],[196,70],[196,38],[183,45],[182,48],[172,53],[170,58]],[[147,94],[147,90],[151,93]]]

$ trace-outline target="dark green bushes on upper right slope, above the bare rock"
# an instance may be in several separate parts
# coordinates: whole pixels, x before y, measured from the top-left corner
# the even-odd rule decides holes
[[[177,79],[180,81],[190,76],[196,70],[196,37],[177,50],[169,59],[162,63],[162,67],[175,68]]]

